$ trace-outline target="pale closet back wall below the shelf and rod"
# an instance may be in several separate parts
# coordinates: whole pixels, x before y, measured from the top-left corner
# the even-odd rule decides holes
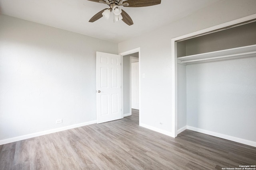
[[[256,142],[256,55],[186,68],[187,125]]]

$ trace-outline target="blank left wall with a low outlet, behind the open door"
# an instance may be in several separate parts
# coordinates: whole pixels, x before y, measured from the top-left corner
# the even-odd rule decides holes
[[[95,121],[96,51],[118,45],[0,15],[0,142]]]

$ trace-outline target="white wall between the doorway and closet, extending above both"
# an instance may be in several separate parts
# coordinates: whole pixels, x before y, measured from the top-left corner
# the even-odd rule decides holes
[[[141,78],[141,125],[167,135],[173,134],[171,39],[255,14],[255,7],[255,0],[216,2],[164,27],[118,44],[119,53],[137,47],[141,49],[140,74],[145,74],[145,78]]]

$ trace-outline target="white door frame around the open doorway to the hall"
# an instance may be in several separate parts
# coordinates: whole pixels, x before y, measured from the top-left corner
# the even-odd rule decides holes
[[[140,90],[140,47],[136,48],[136,49],[131,49],[131,50],[128,50],[128,51],[124,51],[122,53],[119,53],[118,55],[121,55],[121,61],[123,63],[123,57],[122,56],[125,56],[125,55],[130,55],[130,54],[133,54],[133,53],[139,53],[139,90]],[[131,65],[131,64],[130,64]],[[122,67],[121,67],[121,83],[122,83],[122,86],[124,86],[124,79],[123,79],[123,64],[122,64]],[[131,77],[131,76],[130,76]],[[130,82],[131,83],[131,82]],[[122,103],[124,101],[124,95],[123,95],[123,88],[122,88]],[[132,114],[132,102],[131,102],[131,90],[130,90],[130,113]],[[139,103],[141,103],[140,101],[140,92],[139,92]],[[122,105],[122,108],[124,108],[124,106]],[[139,106],[139,110],[140,110],[140,106]],[[122,114],[123,114],[123,117],[124,117],[124,111],[122,111]],[[140,115],[139,114],[139,125],[140,125]]]

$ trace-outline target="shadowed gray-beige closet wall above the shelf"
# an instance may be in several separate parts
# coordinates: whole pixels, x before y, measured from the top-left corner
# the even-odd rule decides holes
[[[256,21],[177,43],[178,57],[256,44]],[[184,48],[186,54],[184,54]]]

